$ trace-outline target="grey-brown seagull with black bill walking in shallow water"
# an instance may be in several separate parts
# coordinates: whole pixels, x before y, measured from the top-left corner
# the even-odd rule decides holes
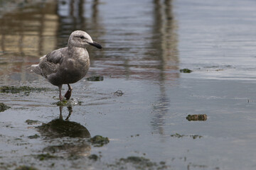
[[[102,45],[93,41],[85,31],[75,30],[70,34],[68,47],[44,55],[38,64],[31,65],[31,71],[40,74],[51,84],[58,86],[60,101],[63,101],[62,86],[68,84],[65,98],[69,100],[73,90],[70,84],[85,77],[90,67],[90,58],[86,50],[89,45],[102,49]]]

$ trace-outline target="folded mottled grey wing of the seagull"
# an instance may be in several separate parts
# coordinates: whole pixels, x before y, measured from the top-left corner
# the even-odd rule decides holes
[[[68,51],[67,47],[60,48],[50,52],[48,55],[41,57],[39,64],[33,64],[31,66],[33,72],[41,74],[47,79],[50,74],[58,71],[60,64],[63,62],[65,53],[67,53],[66,51]]]

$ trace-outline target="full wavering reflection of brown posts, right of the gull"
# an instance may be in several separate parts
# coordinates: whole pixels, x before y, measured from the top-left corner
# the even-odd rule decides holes
[[[151,58],[159,60],[159,97],[154,103],[151,125],[156,132],[164,135],[165,115],[169,113],[170,99],[166,95],[166,79],[176,79],[178,70],[176,21],[171,6],[172,1],[154,0],[154,25],[152,33],[151,51],[147,53]]]

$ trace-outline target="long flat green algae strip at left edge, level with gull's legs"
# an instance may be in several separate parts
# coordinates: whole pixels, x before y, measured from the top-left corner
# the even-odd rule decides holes
[[[21,92],[31,92],[31,91],[50,91],[48,88],[40,88],[40,87],[31,87],[31,86],[1,86],[0,92],[1,93],[11,93],[17,94]]]

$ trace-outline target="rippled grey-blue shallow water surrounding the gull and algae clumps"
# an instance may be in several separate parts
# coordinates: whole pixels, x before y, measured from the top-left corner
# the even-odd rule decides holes
[[[139,169],[119,164],[131,156],[157,164],[142,169],[255,169],[255,1],[4,5],[11,10],[0,12],[1,85],[50,90],[1,94],[11,106],[0,113],[1,169]],[[59,118],[58,88],[28,67],[65,46],[73,30],[86,30],[104,47],[90,47],[86,76],[104,80],[73,84],[80,104],[63,107],[62,116],[71,114],[66,127],[74,132],[78,126],[109,137],[102,147],[36,128]],[[179,71],[185,68],[193,72]],[[196,114],[207,120],[186,119]],[[47,153],[55,158],[38,159]],[[88,158],[93,154],[97,161]]]

